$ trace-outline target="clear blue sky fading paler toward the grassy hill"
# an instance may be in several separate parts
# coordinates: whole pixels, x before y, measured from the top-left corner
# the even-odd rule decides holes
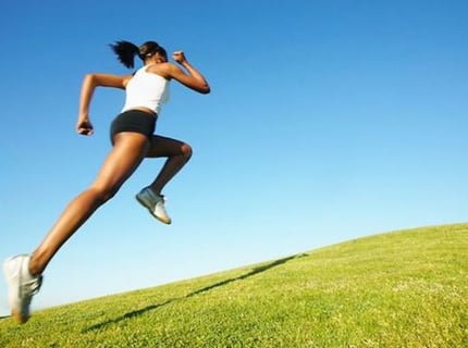
[[[183,49],[212,87],[173,83],[158,121],[195,150],[164,191],[173,224],[134,199],[162,164],[147,161],[52,260],[34,309],[468,221],[467,17],[465,0],[3,3],[0,258],[34,250],[100,167],[123,94],[96,92],[90,138],[78,94],[88,72],[127,73],[119,39]]]

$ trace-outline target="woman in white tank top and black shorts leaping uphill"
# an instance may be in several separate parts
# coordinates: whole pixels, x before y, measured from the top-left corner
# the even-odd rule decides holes
[[[93,134],[89,104],[96,87],[125,89],[125,104],[111,124],[112,150],[95,182],[69,203],[30,256],[16,256],[3,264],[11,312],[19,323],[28,320],[30,300],[40,288],[41,274],[60,247],[116,194],[145,158],[168,159],[156,179],[141,189],[136,199],[155,217],[165,224],[171,223],[161,190],[187,163],[192,148],[183,141],[153,135],[158,113],[161,104],[168,100],[171,79],[200,94],[209,94],[210,87],[182,51],[174,52],[172,57],[181,69],[168,62],[165,50],[155,41],[147,41],[140,47],[128,41],[118,41],[111,48],[125,66],[134,66],[135,55],[141,59],[144,66],[126,76],[88,74],[83,82],[76,123],[78,134]]]

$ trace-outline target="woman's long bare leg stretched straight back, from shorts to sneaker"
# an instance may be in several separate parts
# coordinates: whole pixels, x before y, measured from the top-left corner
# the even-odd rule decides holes
[[[114,147],[95,182],[69,203],[34,251],[29,262],[32,274],[41,274],[60,247],[100,206],[116,194],[145,158],[148,149],[148,139],[141,134],[119,133],[115,135]]]

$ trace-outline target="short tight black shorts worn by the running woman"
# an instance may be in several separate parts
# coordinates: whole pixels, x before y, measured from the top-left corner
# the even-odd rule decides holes
[[[135,132],[150,138],[155,133],[156,119],[156,115],[139,110],[122,112],[112,121],[110,130],[111,142],[113,144],[114,135],[121,132]]]

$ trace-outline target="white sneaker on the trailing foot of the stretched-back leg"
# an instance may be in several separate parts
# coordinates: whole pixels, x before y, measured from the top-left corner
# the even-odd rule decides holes
[[[9,291],[11,314],[20,324],[29,319],[29,306],[33,296],[39,291],[42,276],[29,273],[29,256],[20,254],[7,259],[3,263]]]

